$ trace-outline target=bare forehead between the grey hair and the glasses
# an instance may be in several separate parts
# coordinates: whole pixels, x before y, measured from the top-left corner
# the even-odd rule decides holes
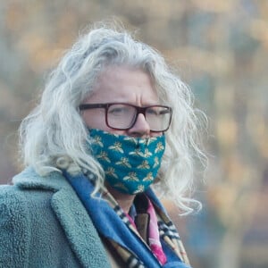
[[[128,102],[155,104],[158,96],[147,72],[123,66],[110,66],[103,71],[88,97],[90,102]]]

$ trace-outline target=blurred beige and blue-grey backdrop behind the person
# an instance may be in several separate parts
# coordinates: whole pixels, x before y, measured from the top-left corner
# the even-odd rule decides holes
[[[209,118],[199,214],[167,203],[195,268],[268,267],[268,1],[2,0],[0,183],[21,171],[17,129],[88,24],[121,20],[176,66]]]

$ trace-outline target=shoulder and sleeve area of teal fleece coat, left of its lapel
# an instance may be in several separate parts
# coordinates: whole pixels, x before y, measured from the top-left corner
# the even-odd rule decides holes
[[[39,178],[33,187],[19,177],[14,185],[0,186],[0,267],[78,267],[51,208],[55,186],[42,188],[37,183],[46,179]]]

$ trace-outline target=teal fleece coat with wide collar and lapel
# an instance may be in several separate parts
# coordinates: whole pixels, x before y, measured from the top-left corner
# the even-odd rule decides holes
[[[105,248],[59,172],[28,168],[0,186],[0,267],[110,267]]]

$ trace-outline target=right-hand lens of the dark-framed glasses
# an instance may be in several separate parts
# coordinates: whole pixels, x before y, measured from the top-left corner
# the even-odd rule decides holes
[[[171,109],[163,106],[151,106],[146,110],[147,123],[152,131],[167,130],[171,121]]]

